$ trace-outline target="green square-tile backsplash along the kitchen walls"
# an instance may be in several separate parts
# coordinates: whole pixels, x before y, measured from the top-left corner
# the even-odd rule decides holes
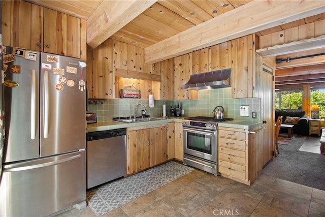
[[[113,117],[133,116],[134,107],[142,103],[151,117],[160,117],[163,115],[163,105],[166,102],[166,114],[170,116],[171,106],[180,104],[184,109],[184,117],[190,116],[211,116],[212,110],[216,106],[224,108],[224,117],[231,117],[237,120],[256,120],[260,119],[260,99],[245,98],[233,99],[231,87],[221,89],[199,90],[198,100],[154,100],[154,108],[149,108],[148,99],[107,99],[102,101],[90,100],[88,112],[95,112],[98,121],[112,120]],[[98,103],[98,104],[95,104]],[[249,106],[249,116],[240,116],[240,106]],[[137,115],[141,115],[142,106],[137,107]],[[251,118],[251,112],[256,111],[257,118]]]

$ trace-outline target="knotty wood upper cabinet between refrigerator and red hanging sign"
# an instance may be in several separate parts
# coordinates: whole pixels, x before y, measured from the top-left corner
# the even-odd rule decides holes
[[[87,88],[89,98],[115,98],[113,41],[107,39],[87,55]]]

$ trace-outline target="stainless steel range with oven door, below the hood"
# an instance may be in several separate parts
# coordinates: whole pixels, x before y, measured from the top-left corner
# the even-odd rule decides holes
[[[233,118],[189,117],[182,122],[184,164],[217,175],[218,122]]]

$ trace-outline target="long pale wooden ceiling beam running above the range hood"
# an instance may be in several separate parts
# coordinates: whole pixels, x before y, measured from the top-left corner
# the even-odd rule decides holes
[[[253,1],[145,48],[155,63],[303,19],[325,10],[323,1]]]

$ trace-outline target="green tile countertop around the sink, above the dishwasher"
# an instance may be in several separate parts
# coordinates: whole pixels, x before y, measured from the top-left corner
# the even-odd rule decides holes
[[[164,119],[162,117],[153,117],[159,120],[151,120],[151,121],[143,121],[136,123],[123,123],[117,120],[109,120],[109,121],[101,121],[97,123],[88,123],[86,132],[95,132],[95,131],[105,131],[105,130],[113,130],[120,128],[131,128],[137,126],[145,126],[145,125],[154,125],[157,123],[169,123],[169,122],[182,122],[182,120],[186,117],[168,117]]]

